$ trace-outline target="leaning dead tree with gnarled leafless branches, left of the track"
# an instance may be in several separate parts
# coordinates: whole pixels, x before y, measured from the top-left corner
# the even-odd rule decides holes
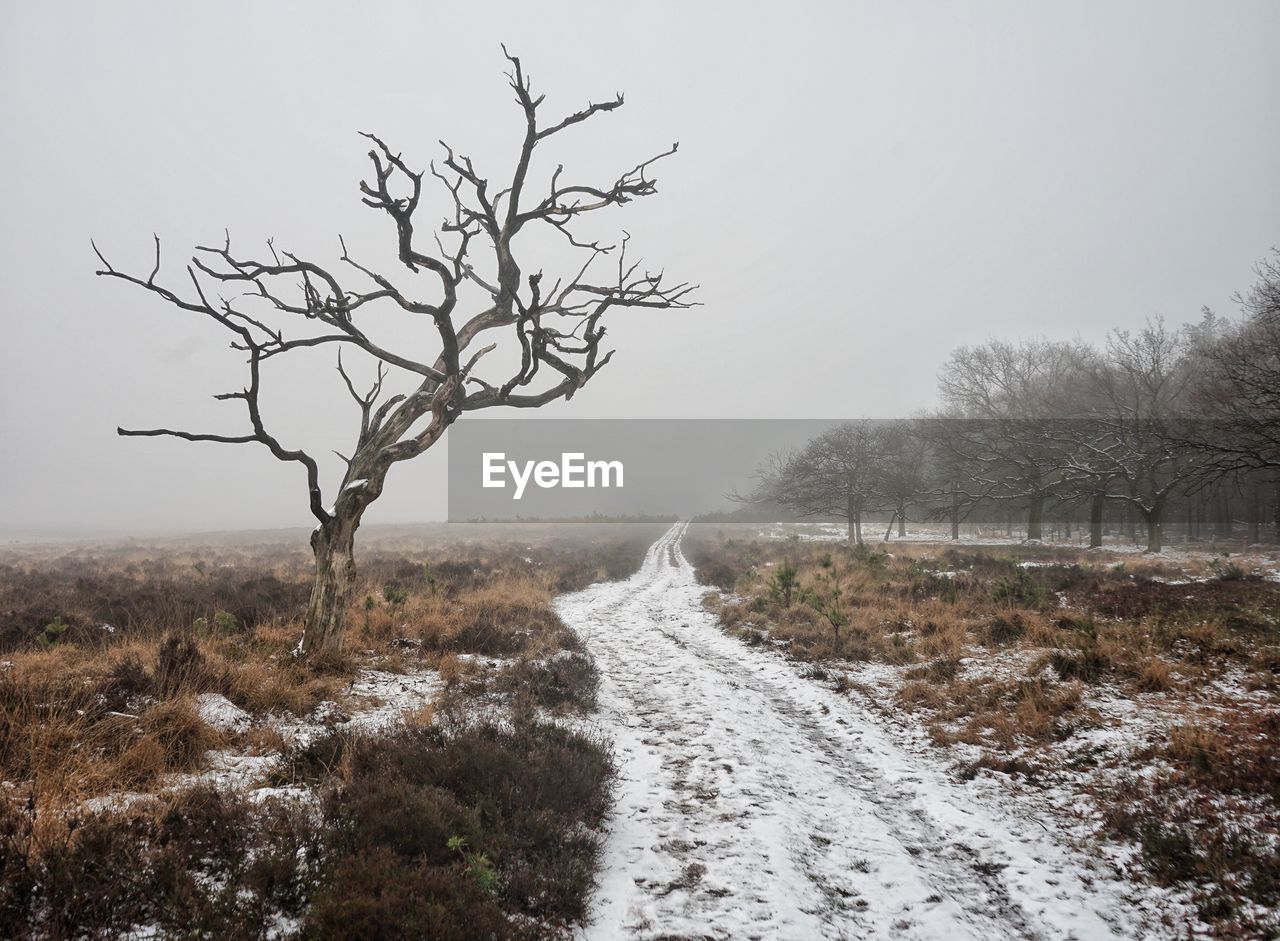
[[[520,59],[503,47],[511,88],[520,106],[524,140],[509,179],[493,186],[477,164],[443,141],[443,160],[428,172],[416,170],[381,138],[365,133],[371,175],[360,183],[366,206],[385,213],[396,227],[399,264],[413,275],[429,275],[426,297],[399,287],[392,278],[357,261],[339,237],[340,268],[321,266],[276,250],[268,241],[262,257],[233,251],[230,237],[221,245],[197,246],[187,265],[189,287],[161,283],[160,239],[155,264],[140,277],[116,270],[93,246],[101,261],[96,274],[140,287],[166,303],[207,316],[232,334],[232,347],[244,353],[248,382],[238,390],[215,396],[244,403],[248,430],[241,434],[192,433],[168,428],[118,429],[122,435],[173,437],[193,442],[262,444],[279,461],[306,472],[307,499],[319,521],[312,536],[316,572],[300,652],[314,654],[342,643],[343,618],[356,579],[355,534],[369,506],[383,493],[387,472],[435,444],[463,412],[493,407],[535,408],[571,398],[608,362],[603,348],[603,318],[613,309],[684,309],[692,306],[694,287],[669,284],[627,256],[627,237],[617,245],[586,241],[576,232],[580,216],[653,196],[653,165],[676,152],[677,145],[643,160],[604,183],[570,183],[563,165],[535,192],[530,166],[538,147],[563,132],[622,106],[617,95],[558,120],[541,119],[544,96],[534,96]],[[434,233],[433,247],[417,237],[424,182],[430,174],[448,205],[448,215]],[[552,282],[541,270],[525,273],[517,255],[517,236],[550,230],[581,253],[581,264]],[[447,245],[448,243],[448,245]],[[492,270],[480,271],[484,246]],[[492,255],[490,255],[492,252]],[[616,259],[604,264],[607,256]],[[488,268],[488,265],[486,265]],[[242,293],[228,300],[218,288]],[[483,298],[466,312],[467,288]],[[399,310],[430,320],[439,339],[434,360],[380,346],[357,315],[365,307]],[[279,324],[289,323],[285,333]],[[485,375],[481,360],[504,339],[520,351],[513,373]],[[489,342],[485,342],[489,341]],[[338,373],[360,410],[360,431],[337,497],[326,503],[320,469],[306,451],[287,447],[268,430],[260,407],[262,367],[296,350],[333,347]],[[340,352],[355,348],[376,364],[374,383],[361,390],[342,362]],[[384,380],[394,371],[407,376],[410,392],[384,396]]]

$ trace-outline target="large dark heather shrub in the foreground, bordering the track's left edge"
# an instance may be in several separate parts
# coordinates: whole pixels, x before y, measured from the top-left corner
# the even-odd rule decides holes
[[[504,938],[521,933],[502,913],[559,927],[584,918],[613,773],[599,743],[517,720],[425,726],[351,749],[349,782],[326,801],[333,857],[308,931],[421,937],[422,926],[461,924],[443,936]],[[392,904],[389,883],[429,896],[408,904],[396,889]]]

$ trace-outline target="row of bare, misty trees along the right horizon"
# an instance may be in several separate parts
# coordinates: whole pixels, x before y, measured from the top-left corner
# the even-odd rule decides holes
[[[884,517],[886,539],[915,519],[1091,547],[1119,527],[1151,552],[1166,534],[1280,542],[1280,252],[1256,273],[1239,319],[960,347],[936,411],[836,425],[760,466],[742,499],[845,520],[850,543]]]

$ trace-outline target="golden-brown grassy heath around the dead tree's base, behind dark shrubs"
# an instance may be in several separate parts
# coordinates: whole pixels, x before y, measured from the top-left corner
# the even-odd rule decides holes
[[[0,558],[0,780],[60,810],[148,791],[221,745],[283,743],[257,725],[236,739],[200,721],[219,693],[251,716],[307,716],[367,664],[435,667],[458,654],[538,659],[575,639],[556,591],[623,574],[657,526],[461,527],[429,544],[371,540],[343,653],[301,662],[310,571],[297,547],[33,549]],[[46,647],[46,623],[70,625]],[[111,630],[99,625],[109,623]],[[419,716],[419,720],[425,720]]]

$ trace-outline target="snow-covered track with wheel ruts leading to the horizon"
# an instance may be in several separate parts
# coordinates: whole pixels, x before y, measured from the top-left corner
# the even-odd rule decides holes
[[[589,938],[1160,936],[1138,914],[1156,897],[726,636],[684,530],[557,602],[621,767]]]

